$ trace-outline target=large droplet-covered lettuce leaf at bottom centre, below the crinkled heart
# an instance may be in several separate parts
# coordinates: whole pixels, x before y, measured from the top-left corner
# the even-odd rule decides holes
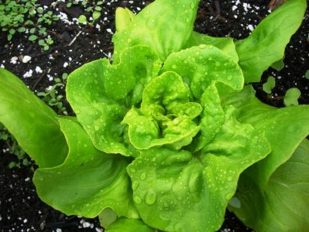
[[[201,152],[150,148],[128,166],[133,200],[148,225],[173,232],[219,229],[240,173],[270,153],[263,132],[237,122],[232,108],[225,112],[221,130]]]

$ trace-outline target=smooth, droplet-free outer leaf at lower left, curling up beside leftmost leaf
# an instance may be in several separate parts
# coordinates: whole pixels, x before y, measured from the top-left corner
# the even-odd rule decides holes
[[[128,160],[98,151],[83,128],[69,119],[59,119],[69,153],[53,168],[39,168],[34,184],[43,202],[67,215],[94,218],[109,207],[118,216],[138,218],[132,204]]]

